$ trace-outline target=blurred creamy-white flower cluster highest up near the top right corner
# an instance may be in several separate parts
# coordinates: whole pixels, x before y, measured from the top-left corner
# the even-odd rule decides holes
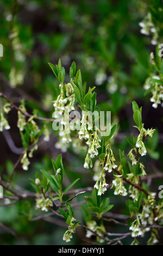
[[[144,35],[152,35],[151,44],[157,45],[159,38],[158,29],[154,26],[152,22],[151,13],[148,13],[145,19],[139,22],[139,26],[141,27],[140,33]]]

